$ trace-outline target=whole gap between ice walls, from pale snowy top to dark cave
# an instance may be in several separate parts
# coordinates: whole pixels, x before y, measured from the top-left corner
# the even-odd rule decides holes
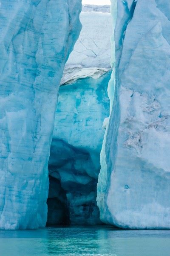
[[[82,6],[80,20],[82,32],[59,89],[48,163],[47,226],[102,224],[96,186],[110,109],[110,6]]]

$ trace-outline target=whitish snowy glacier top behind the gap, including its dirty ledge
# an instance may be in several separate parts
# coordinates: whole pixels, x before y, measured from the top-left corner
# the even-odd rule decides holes
[[[96,73],[101,76],[103,71],[105,73],[111,68],[111,35],[113,29],[111,14],[105,12],[110,9],[110,6],[108,6],[109,9],[106,6],[102,6],[103,9],[100,7],[90,5],[92,10],[90,12],[87,10],[84,12],[82,9],[80,14],[82,31],[65,64],[61,84],[71,81],[71,74],[73,74],[73,79],[78,78],[80,74],[80,77],[94,76],[95,78],[98,77]]]

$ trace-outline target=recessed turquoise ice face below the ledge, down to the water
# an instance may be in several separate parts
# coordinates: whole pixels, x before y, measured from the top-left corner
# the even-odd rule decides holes
[[[57,211],[64,212],[61,201],[65,194],[71,224],[100,224],[96,184],[104,135],[102,122],[109,115],[110,76],[111,71],[99,79],[78,79],[60,87],[48,167],[56,182],[51,184],[48,195],[48,208],[56,204],[48,215],[49,221],[51,215],[56,216],[53,224],[67,224],[67,218],[57,215]],[[63,191],[57,189],[59,181]],[[55,194],[51,195],[51,191]]]

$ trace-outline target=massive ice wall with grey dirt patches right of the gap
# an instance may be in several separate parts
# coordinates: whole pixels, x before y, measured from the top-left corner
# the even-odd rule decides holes
[[[167,0],[117,1],[116,87],[98,205],[102,221],[123,228],[170,228],[169,13]]]

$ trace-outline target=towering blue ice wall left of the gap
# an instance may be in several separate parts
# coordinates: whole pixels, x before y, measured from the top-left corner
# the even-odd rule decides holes
[[[0,1],[0,228],[44,227],[57,92],[81,0]]]

